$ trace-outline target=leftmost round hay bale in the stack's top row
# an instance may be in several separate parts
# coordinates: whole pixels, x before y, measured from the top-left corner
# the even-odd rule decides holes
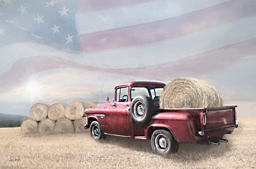
[[[29,111],[30,118],[35,121],[41,121],[45,119],[47,117],[48,108],[49,104],[34,104]]]

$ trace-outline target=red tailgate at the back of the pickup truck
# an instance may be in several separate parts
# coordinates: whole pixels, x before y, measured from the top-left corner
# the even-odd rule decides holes
[[[206,108],[206,130],[223,129],[236,125],[236,107],[223,106]]]

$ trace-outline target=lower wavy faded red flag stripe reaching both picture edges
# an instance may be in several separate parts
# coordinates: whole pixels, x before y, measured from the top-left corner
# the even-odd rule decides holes
[[[162,80],[177,76],[196,76],[217,69],[222,69],[240,61],[246,56],[256,55],[256,38],[245,42],[228,45],[213,51],[183,58],[166,64],[139,68],[108,69],[78,64],[54,56],[35,56],[21,59],[12,68],[0,75],[0,93],[27,82],[34,73],[55,68],[74,68],[88,71],[109,72],[135,78],[154,78]],[[146,59],[146,58],[145,58]],[[22,71],[21,71],[22,70]]]

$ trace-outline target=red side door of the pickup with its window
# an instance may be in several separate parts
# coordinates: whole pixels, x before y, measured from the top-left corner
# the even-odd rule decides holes
[[[106,132],[108,134],[128,136],[127,110],[129,105],[128,87],[115,90],[115,99],[106,109]]]

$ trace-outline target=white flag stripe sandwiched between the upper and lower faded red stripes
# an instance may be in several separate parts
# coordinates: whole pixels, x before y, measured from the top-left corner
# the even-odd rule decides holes
[[[255,20],[256,16],[214,26],[179,38],[146,45],[84,53],[86,61],[81,60],[81,62],[106,68],[135,68],[172,62],[256,38]]]

